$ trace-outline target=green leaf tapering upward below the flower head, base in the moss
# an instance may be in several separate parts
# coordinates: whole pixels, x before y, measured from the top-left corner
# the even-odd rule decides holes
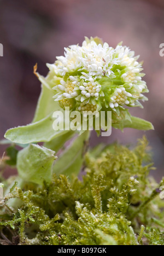
[[[86,131],[82,135],[75,138],[71,147],[68,147],[54,165],[54,173],[65,174],[78,174],[84,160],[84,151],[86,143],[89,139],[90,132]]]

